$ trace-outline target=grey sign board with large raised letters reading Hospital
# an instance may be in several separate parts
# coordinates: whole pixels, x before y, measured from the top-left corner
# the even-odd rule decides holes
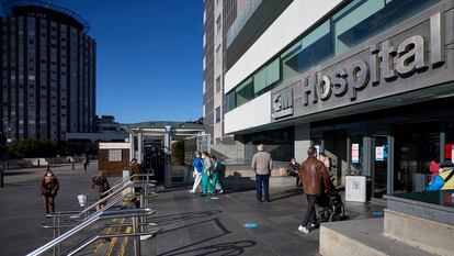
[[[272,121],[317,114],[454,80],[454,15],[428,14],[425,20],[394,27],[272,90]],[[447,32],[446,32],[447,31]]]

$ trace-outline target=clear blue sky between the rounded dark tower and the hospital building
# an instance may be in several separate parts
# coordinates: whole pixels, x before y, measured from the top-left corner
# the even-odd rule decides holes
[[[52,0],[90,22],[97,113],[123,123],[202,116],[202,0]]]

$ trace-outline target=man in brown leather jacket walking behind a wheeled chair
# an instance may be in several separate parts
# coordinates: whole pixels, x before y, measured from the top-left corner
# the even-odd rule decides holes
[[[329,174],[324,163],[317,159],[317,149],[307,149],[307,159],[299,167],[299,177],[303,180],[304,192],[307,197],[307,210],[298,231],[309,233],[317,225],[316,202],[324,194],[329,193]],[[310,225],[309,225],[310,222]]]

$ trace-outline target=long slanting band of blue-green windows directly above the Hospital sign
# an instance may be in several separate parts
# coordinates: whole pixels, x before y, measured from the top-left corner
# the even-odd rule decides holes
[[[230,111],[441,0],[353,0],[229,91]]]

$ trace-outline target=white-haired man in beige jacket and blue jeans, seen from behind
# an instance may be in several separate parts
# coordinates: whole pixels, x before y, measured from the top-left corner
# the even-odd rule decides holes
[[[259,151],[252,157],[252,170],[256,171],[256,183],[257,183],[257,201],[262,202],[262,189],[264,201],[270,202],[269,185],[270,174],[273,169],[273,160],[271,159],[270,153],[264,151],[263,144],[257,146]]]

